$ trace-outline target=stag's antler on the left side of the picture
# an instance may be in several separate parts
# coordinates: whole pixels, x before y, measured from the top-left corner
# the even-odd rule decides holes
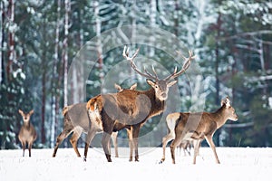
[[[127,46],[125,46],[125,47],[123,48],[123,51],[122,51],[122,56],[123,56],[125,59],[127,59],[128,61],[131,62],[131,68],[132,68],[134,71],[138,72],[138,73],[139,73],[141,76],[143,76],[143,77],[146,77],[146,78],[151,79],[151,80],[154,80],[154,81],[158,81],[158,75],[157,75],[157,73],[155,72],[155,70],[154,70],[153,67],[152,67],[152,71],[155,73],[155,76],[153,76],[150,72],[146,71],[145,68],[144,68],[145,73],[144,73],[144,72],[141,72],[141,71],[137,68],[136,64],[133,62],[134,58],[137,56],[137,54],[138,54],[138,52],[139,52],[139,48],[138,48],[137,51],[132,55],[132,57],[129,57],[129,50],[130,50],[130,48],[127,48]]]

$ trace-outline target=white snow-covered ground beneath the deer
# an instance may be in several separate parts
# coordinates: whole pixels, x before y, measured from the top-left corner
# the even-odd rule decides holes
[[[119,148],[128,155],[128,148]],[[22,150],[0,150],[0,180],[271,180],[272,148],[217,148],[220,165],[215,163],[210,148],[200,148],[197,164],[192,157],[177,152],[173,165],[170,148],[166,161],[158,164],[162,148],[140,148],[140,162],[128,157],[112,157],[108,163],[101,148],[90,148],[87,162],[76,157],[73,148],[33,149],[32,157],[22,157]],[[80,148],[83,155],[83,148]],[[113,150],[112,150],[113,152]],[[113,152],[114,154],[114,152]],[[28,150],[25,155],[28,156]]]

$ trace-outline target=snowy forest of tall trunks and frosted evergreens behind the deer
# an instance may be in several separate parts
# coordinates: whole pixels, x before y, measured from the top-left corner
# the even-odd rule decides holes
[[[190,68],[198,67],[201,76],[190,80],[193,70],[180,76],[175,110],[214,111],[228,95],[239,119],[216,132],[215,144],[272,147],[271,0],[1,0],[0,14],[0,149],[21,148],[19,109],[34,110],[34,148],[53,148],[64,106],[116,92],[114,83],[128,88],[137,81],[138,90],[149,89],[129,67],[118,76],[131,79],[107,76],[122,65],[125,44],[131,52],[140,47],[141,56],[170,72],[182,63],[165,50],[192,50],[197,58]],[[163,49],[166,34],[174,38]],[[73,64],[79,54],[86,60]],[[167,129],[158,122],[164,117],[149,120],[141,135],[154,130],[154,139],[161,140]]]

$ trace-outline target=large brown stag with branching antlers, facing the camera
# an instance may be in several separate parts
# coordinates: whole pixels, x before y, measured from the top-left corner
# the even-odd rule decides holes
[[[165,100],[168,98],[168,92],[172,85],[177,81],[171,81],[185,72],[194,59],[192,52],[189,52],[189,58],[182,56],[184,62],[180,71],[177,68],[168,77],[160,80],[156,71],[152,69],[153,74],[144,70],[140,71],[133,62],[137,56],[139,49],[132,55],[128,56],[129,49],[126,46],[123,49],[123,57],[131,63],[131,68],[141,76],[147,78],[147,83],[151,86],[150,90],[122,90],[117,93],[103,94],[96,100],[89,100],[87,109],[90,111],[98,111],[102,121],[102,148],[108,162],[112,162],[111,153],[107,147],[112,135],[112,131],[120,129],[131,129],[132,143],[135,151],[135,161],[139,161],[138,154],[138,137],[143,124],[153,116],[159,115],[165,108]],[[116,121],[120,124],[117,129],[114,127]],[[87,157],[87,150],[92,141],[94,134],[89,130],[85,144],[84,160]],[[130,161],[132,156],[130,156]]]

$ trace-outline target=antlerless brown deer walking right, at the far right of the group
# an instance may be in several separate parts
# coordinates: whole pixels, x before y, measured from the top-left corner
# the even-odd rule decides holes
[[[222,127],[228,119],[236,121],[238,116],[233,107],[230,106],[228,97],[221,100],[221,107],[215,112],[175,112],[170,114],[171,119],[176,120],[175,138],[170,145],[172,162],[175,164],[175,148],[182,140],[194,139],[193,164],[196,164],[196,157],[199,155],[200,142],[205,138],[212,149],[216,162],[219,164],[219,157],[212,137],[217,129]],[[165,160],[163,155],[161,162]]]

